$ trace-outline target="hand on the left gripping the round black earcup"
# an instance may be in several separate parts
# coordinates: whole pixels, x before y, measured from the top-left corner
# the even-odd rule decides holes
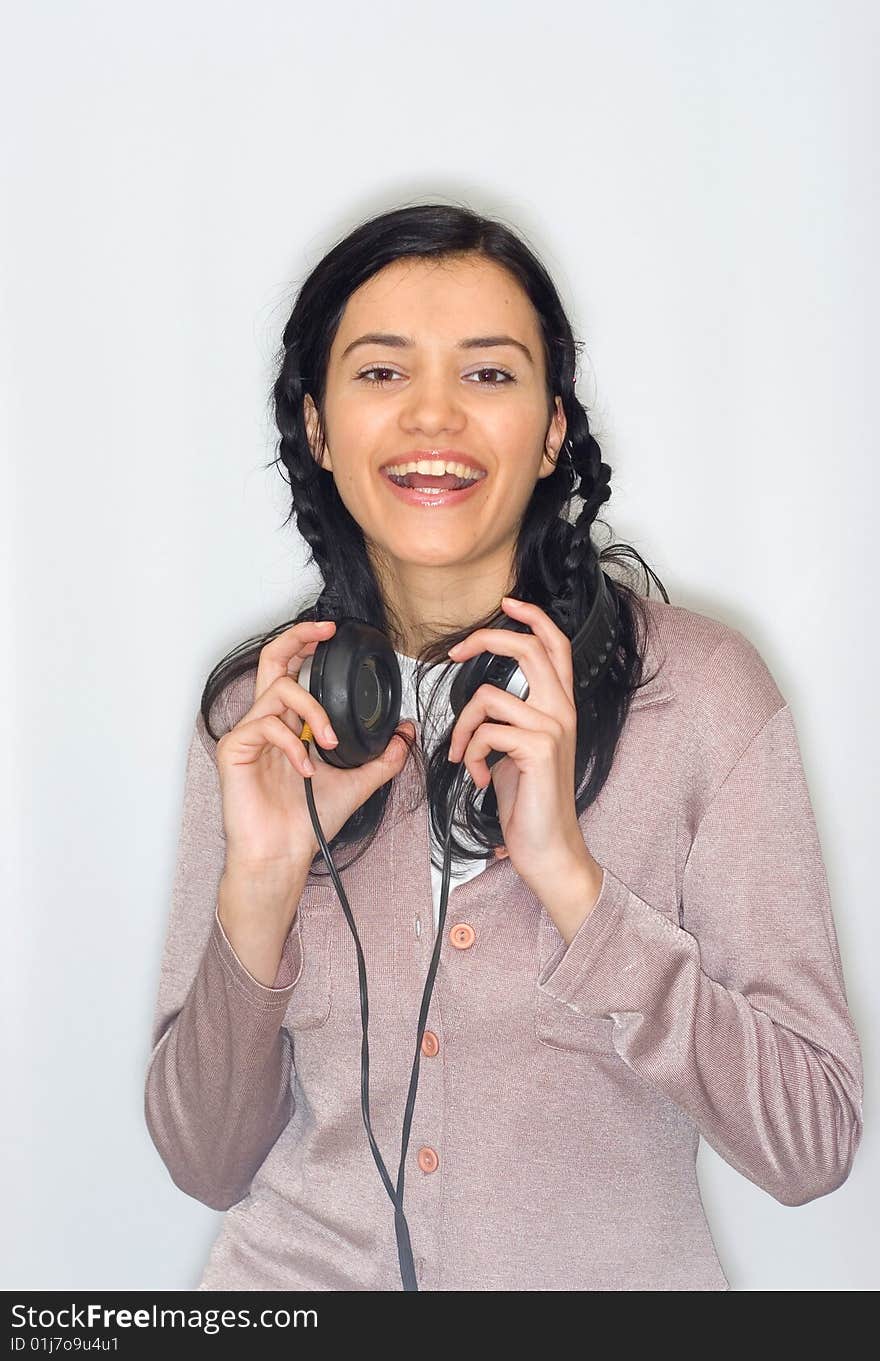
[[[287,870],[305,872],[320,849],[306,803],[303,720],[321,747],[331,750],[335,743],[325,738],[326,710],[297,676],[305,659],[335,632],[332,621],[306,621],[271,638],[260,652],[253,705],[218,742],[227,868],[277,879]],[[415,735],[411,723],[401,727]],[[311,789],[328,842],[403,769],[405,757],[405,743],[393,736],[384,753],[351,770],[314,759]]]

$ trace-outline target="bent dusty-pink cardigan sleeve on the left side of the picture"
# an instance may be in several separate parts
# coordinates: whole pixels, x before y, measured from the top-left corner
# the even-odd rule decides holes
[[[273,987],[267,987],[245,968],[223,930],[218,902],[226,840],[214,747],[199,715],[186,761],[144,1117],[175,1185],[226,1210],[248,1194],[294,1112],[283,1019],[302,958],[294,930]]]

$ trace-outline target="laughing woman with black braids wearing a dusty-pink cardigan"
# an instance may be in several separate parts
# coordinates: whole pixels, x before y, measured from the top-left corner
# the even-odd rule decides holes
[[[325,585],[208,678],[146,1078],[173,1180],[227,1211],[199,1288],[401,1288],[358,958],[305,781],[363,947],[393,1175],[464,761],[405,1157],[418,1289],[729,1289],[699,1136],[801,1204],[862,1130],[792,712],[741,633],[608,574],[617,645],[582,691],[611,470],[558,293],[506,226],[433,204],[363,223],[283,340],[280,460]],[[408,720],[355,769],[320,759],[328,715],[297,680],[345,617],[392,640]],[[453,719],[450,678],[484,651],[528,698],[481,686]]]

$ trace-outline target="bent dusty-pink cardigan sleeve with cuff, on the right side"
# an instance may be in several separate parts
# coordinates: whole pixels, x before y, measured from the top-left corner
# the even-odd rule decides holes
[[[749,742],[696,829],[679,927],[604,867],[601,893],[539,987],[613,1045],[707,1143],[782,1204],[827,1195],[862,1132],[862,1063],[788,705]]]

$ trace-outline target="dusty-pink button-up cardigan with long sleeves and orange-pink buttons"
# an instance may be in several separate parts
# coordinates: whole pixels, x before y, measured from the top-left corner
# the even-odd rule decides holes
[[[510,860],[450,894],[407,1154],[420,1290],[726,1290],[700,1135],[782,1204],[853,1166],[861,1051],[792,712],[739,630],[647,608],[646,674],[664,666],[581,818],[604,867],[596,909],[566,947]],[[226,691],[220,727],[253,683]],[[413,778],[409,762],[343,874],[393,1180],[434,947]],[[336,891],[309,881],[269,988],[216,916],[223,859],[199,716],[144,1093],[175,1185],[227,1211],[199,1289],[400,1290]]]

